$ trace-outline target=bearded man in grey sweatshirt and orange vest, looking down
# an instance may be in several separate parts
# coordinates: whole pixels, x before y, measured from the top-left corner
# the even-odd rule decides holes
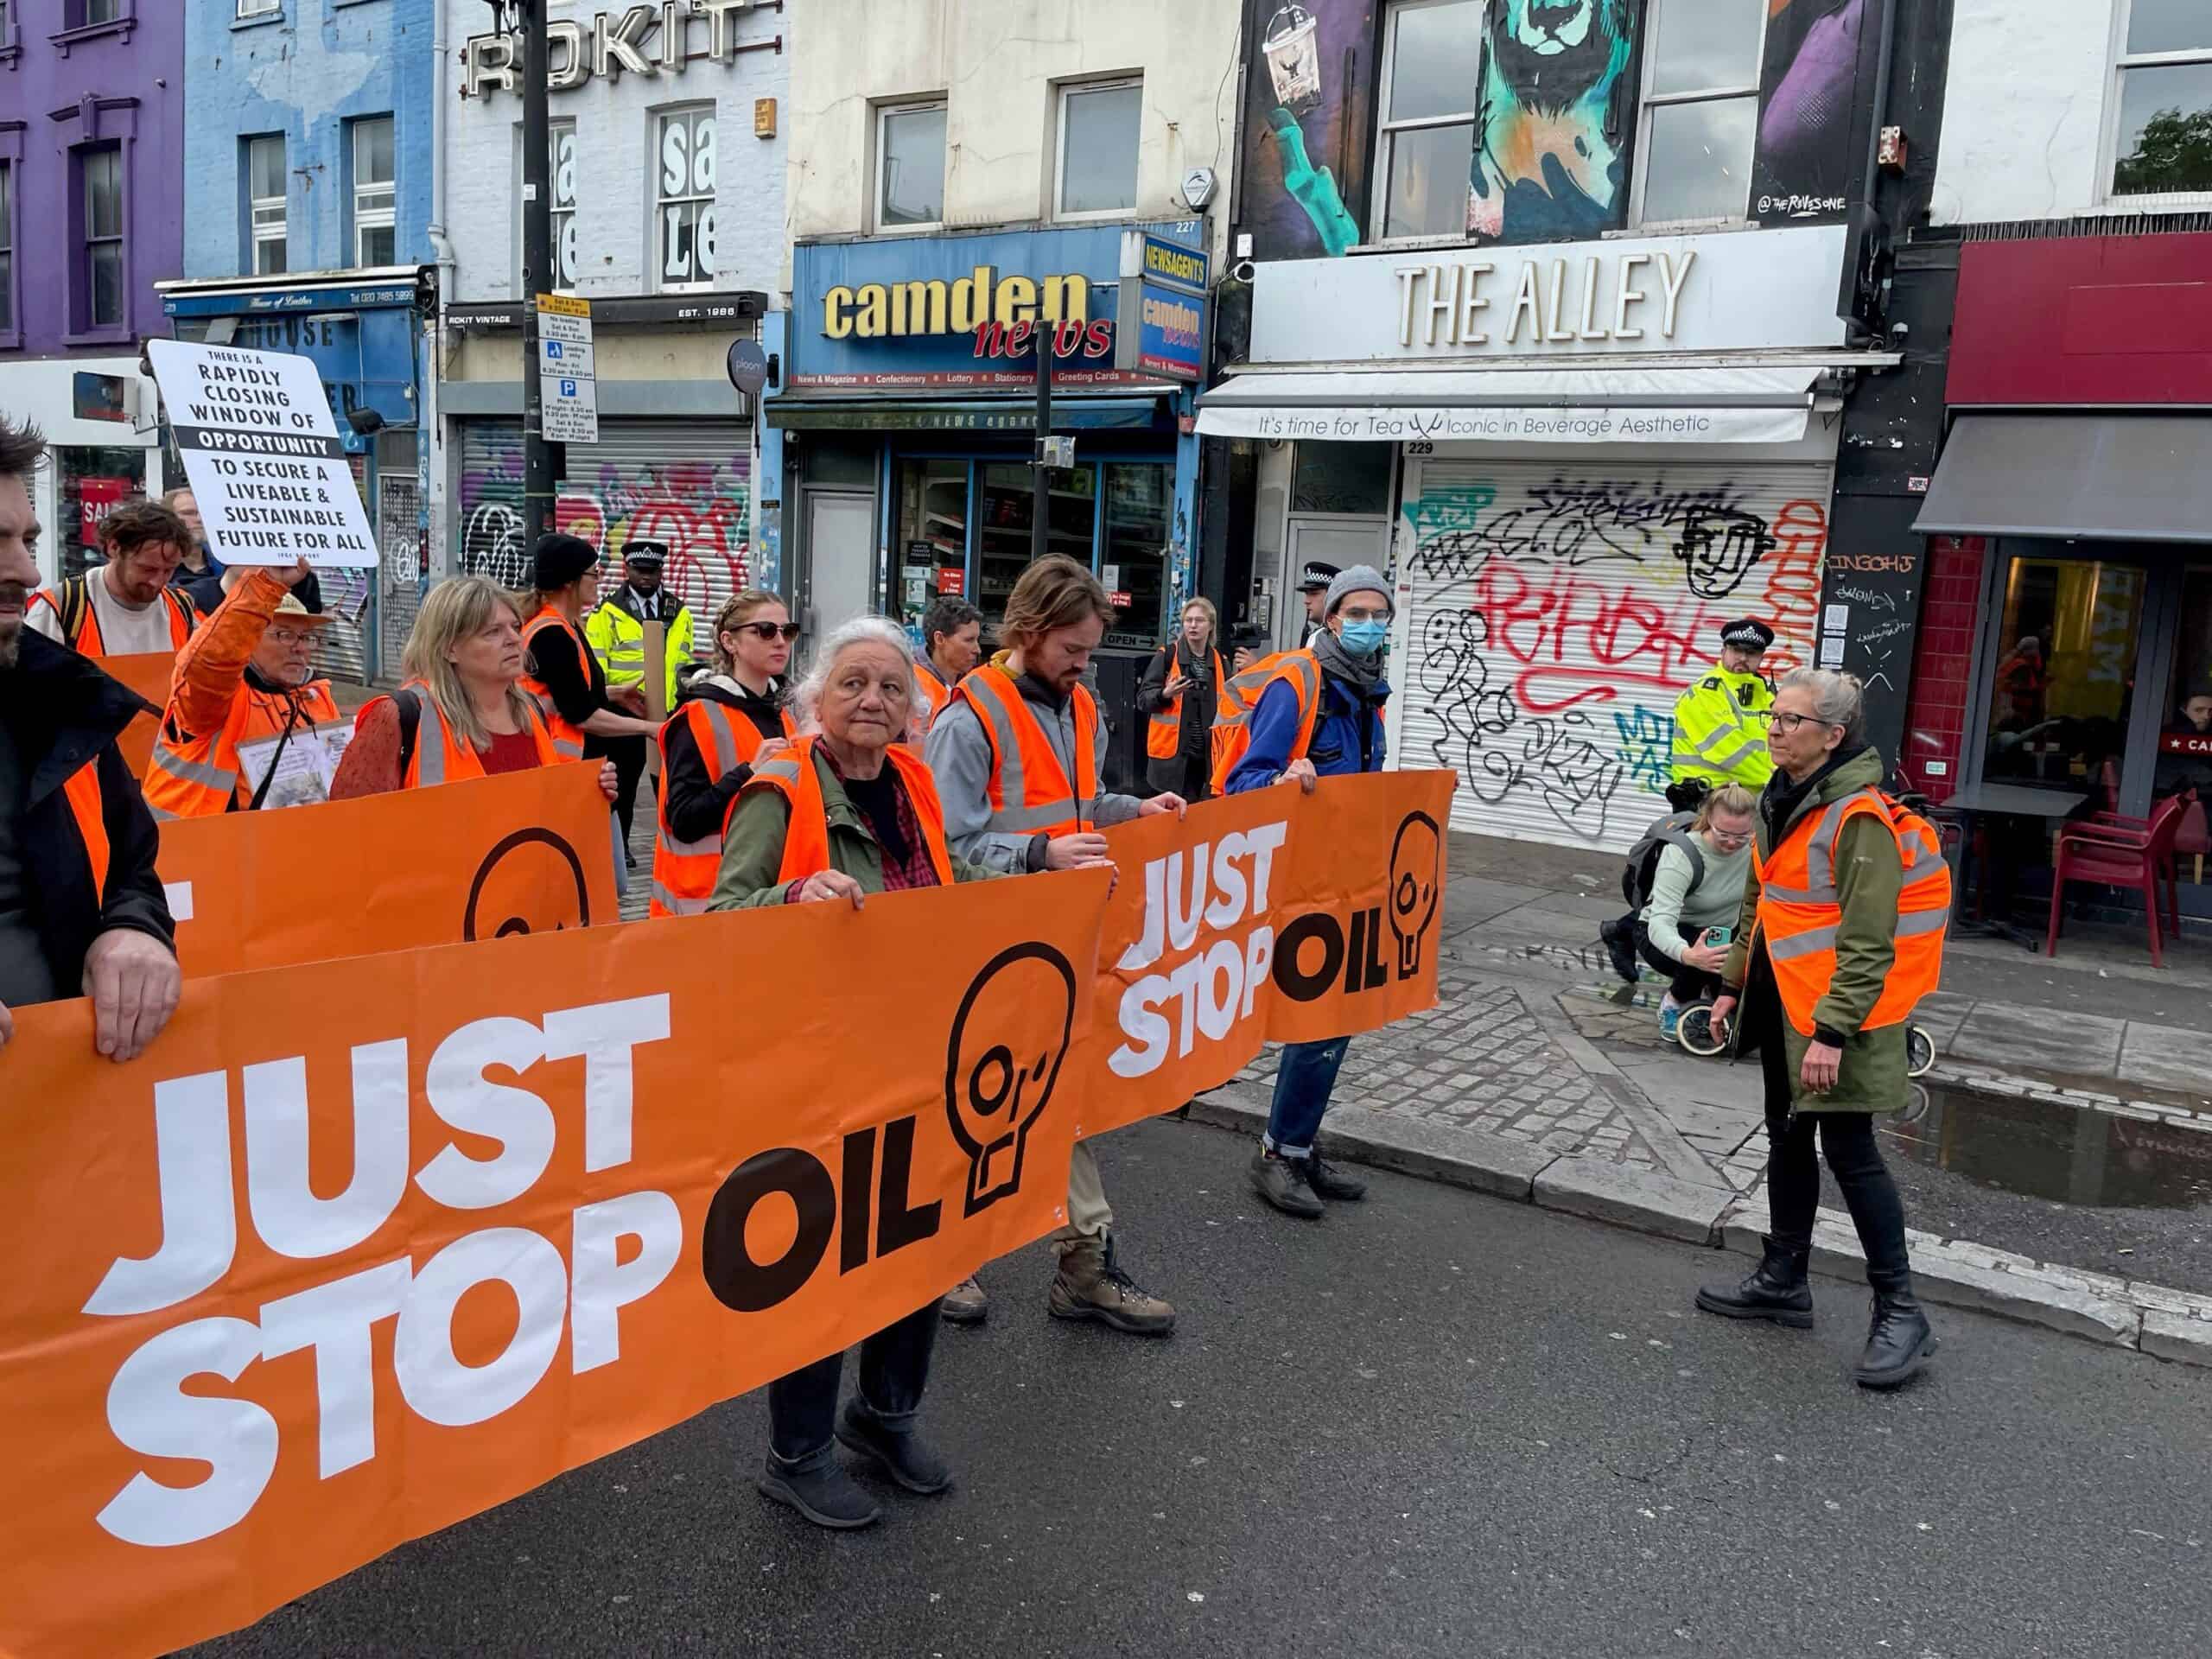
[[[1102,827],[1183,814],[1179,794],[1139,801],[1099,785],[1106,719],[1084,670],[1108,622],[1106,588],[1064,553],[1037,560],[1013,584],[1000,624],[1009,648],[967,675],[929,728],[929,770],[962,858],[1006,874],[1110,865]],[[1068,1225],[1053,1234],[1053,1318],[1099,1321],[1133,1336],[1175,1329],[1175,1307],[1115,1261],[1113,1206],[1084,1141],[1068,1164]],[[973,1279],[947,1298],[953,1323],[978,1323],[984,1312]]]

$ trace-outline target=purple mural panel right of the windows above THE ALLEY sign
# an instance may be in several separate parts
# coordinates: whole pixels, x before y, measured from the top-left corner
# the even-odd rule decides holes
[[[1865,133],[1851,144],[1867,0],[1767,0],[1752,212],[1763,223],[1838,219]],[[1869,53],[1871,55],[1871,53]],[[1871,66],[1869,66],[1871,69]]]

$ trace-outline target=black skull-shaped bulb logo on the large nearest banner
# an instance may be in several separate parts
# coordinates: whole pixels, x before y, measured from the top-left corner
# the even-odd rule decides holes
[[[1040,1009],[1060,1011],[1057,1037],[1011,1046],[1009,1035],[1031,1026]],[[1020,1192],[1029,1128],[1060,1082],[1073,1024],[1075,969],[1051,945],[1000,951],[960,998],[945,1048],[945,1115],[969,1155],[967,1214]]]

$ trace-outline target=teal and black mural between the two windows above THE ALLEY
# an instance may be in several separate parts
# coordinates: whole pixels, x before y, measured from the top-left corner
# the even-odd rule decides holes
[[[1482,53],[1473,237],[1595,237],[1624,221],[1635,119],[1628,0],[1493,0]]]

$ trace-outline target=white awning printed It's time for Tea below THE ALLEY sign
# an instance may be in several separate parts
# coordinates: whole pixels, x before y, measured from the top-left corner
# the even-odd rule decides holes
[[[1199,398],[1214,438],[1741,442],[1805,436],[1820,365],[1237,374]]]

